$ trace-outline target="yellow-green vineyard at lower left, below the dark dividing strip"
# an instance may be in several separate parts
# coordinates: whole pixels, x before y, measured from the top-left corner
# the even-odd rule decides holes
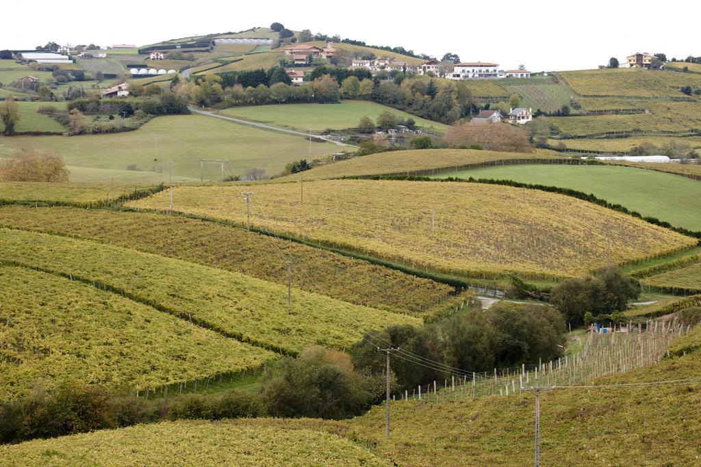
[[[145,389],[275,357],[76,281],[0,267],[0,402],[69,381]]]

